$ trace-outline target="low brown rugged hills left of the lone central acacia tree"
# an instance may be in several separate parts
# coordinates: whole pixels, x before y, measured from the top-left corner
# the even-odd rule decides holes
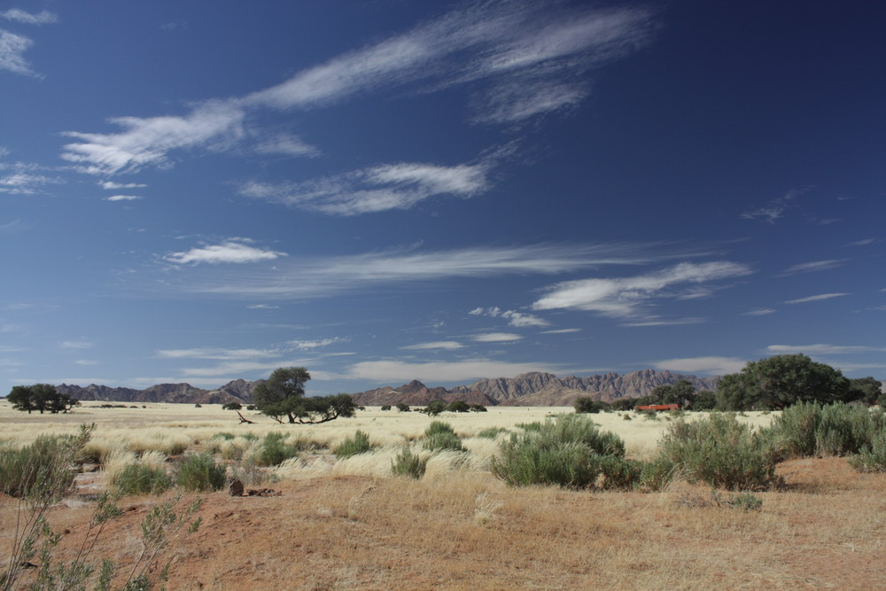
[[[253,388],[263,380],[247,382],[236,379],[215,390],[204,390],[190,384],[159,384],[144,390],[133,388],[112,388],[106,385],[90,384],[57,385],[60,393],[70,394],[77,400],[113,400],[115,402],[177,402],[186,404],[227,404],[228,402],[248,402]]]

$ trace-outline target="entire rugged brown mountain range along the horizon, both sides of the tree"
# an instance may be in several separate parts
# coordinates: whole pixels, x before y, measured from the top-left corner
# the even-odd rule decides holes
[[[532,371],[517,377],[481,379],[471,385],[458,385],[449,389],[429,388],[418,380],[413,380],[398,387],[385,385],[375,390],[354,393],[352,396],[361,406],[400,403],[425,406],[431,400],[465,400],[484,406],[571,406],[579,396],[589,396],[606,402],[645,396],[659,385],[673,384],[680,379],[688,379],[696,390],[716,390],[719,381],[719,377],[686,376],[655,369],[642,369],[625,375],[611,372],[589,377],[556,377],[554,374]],[[253,388],[263,381],[237,379],[215,390],[204,390],[190,384],[152,385],[144,390],[95,384],[86,387],[62,384],[56,388],[77,400],[248,404],[252,399]]]

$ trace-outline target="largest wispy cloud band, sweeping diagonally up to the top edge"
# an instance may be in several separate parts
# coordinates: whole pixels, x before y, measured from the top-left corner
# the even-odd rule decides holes
[[[473,97],[475,121],[525,121],[578,104],[587,96],[588,71],[636,51],[649,42],[655,27],[652,12],[637,8],[466,4],[244,97],[207,100],[183,115],[110,120],[119,132],[68,132],[76,141],[64,147],[62,158],[90,174],[168,167],[172,152],[262,136],[251,126],[265,110],[322,108],[395,88],[401,94],[458,86]],[[253,148],[315,155],[315,149],[294,137],[271,136]]]

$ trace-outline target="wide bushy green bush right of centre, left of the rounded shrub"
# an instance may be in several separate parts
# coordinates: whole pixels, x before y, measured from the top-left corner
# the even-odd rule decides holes
[[[580,415],[548,419],[511,433],[491,462],[496,478],[510,486],[632,488],[641,465],[625,459],[625,444]]]

